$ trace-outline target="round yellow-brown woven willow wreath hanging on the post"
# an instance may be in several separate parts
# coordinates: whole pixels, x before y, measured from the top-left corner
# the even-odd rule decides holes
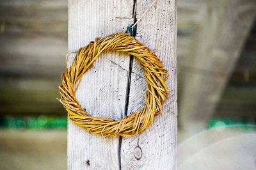
[[[102,52],[111,50],[127,52],[134,56],[143,67],[147,81],[145,107],[129,116],[124,116],[122,120],[92,116],[79,105],[76,99],[77,88],[74,88],[77,81],[79,81],[77,87],[79,86],[83,74],[92,67],[95,59]],[[162,113],[162,105],[169,93],[164,82],[168,78],[168,73],[163,68],[162,61],[153,52],[136,38],[125,33],[96,38],[95,42],[80,48],[72,66],[61,75],[62,85],[59,86],[60,102],[67,110],[68,118],[86,130],[102,136],[132,136],[148,127],[153,122],[154,116]]]

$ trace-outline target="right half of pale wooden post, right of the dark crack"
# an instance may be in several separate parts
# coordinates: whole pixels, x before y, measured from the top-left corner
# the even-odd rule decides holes
[[[136,1],[136,18],[153,2]],[[122,169],[177,169],[177,22],[176,1],[157,1],[147,15],[138,22],[139,41],[155,50],[170,77],[166,85],[170,91],[163,106],[163,114],[135,137],[122,139]],[[128,113],[145,105],[146,81],[139,63],[134,59]]]

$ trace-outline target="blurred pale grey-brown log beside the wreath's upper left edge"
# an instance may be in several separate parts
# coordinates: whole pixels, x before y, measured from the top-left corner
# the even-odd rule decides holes
[[[57,79],[65,70],[66,38],[4,33],[0,39],[0,74]]]

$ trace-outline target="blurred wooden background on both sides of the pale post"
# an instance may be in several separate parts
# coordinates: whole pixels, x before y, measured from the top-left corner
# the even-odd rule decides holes
[[[255,168],[256,1],[177,5],[179,169]],[[1,169],[66,169],[67,27],[67,0],[0,1]]]

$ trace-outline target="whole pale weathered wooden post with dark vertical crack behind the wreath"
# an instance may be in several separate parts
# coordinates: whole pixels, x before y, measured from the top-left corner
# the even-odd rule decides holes
[[[68,50],[126,28],[152,2],[69,0]],[[157,1],[137,25],[136,38],[155,50],[170,74],[166,81],[170,95],[162,116],[135,137],[107,139],[68,120],[68,169],[177,169],[176,26],[174,0]],[[69,66],[74,56],[68,57]],[[125,53],[108,52],[84,75],[76,97],[92,115],[122,118],[145,105],[145,89],[144,74],[136,60]]]

